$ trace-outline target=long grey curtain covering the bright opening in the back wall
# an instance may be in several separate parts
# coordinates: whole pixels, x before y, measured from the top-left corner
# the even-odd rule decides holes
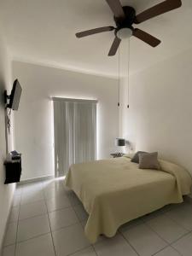
[[[96,101],[53,98],[55,177],[96,159]]]

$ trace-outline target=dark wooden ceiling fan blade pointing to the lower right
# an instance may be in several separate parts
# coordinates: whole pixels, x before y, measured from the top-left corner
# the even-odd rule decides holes
[[[160,44],[159,39],[154,38],[147,32],[144,32],[143,30],[138,28],[133,30],[132,35],[136,38],[141,39],[143,42],[145,42],[146,44],[149,44],[152,47],[156,47],[158,44]]]

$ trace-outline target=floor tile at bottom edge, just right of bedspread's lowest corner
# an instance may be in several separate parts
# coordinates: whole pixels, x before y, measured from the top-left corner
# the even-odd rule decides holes
[[[98,256],[137,256],[137,253],[118,235],[94,245]]]

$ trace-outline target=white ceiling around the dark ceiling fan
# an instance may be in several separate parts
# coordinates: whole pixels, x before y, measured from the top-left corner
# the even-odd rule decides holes
[[[163,0],[122,0],[137,13]],[[0,0],[0,23],[13,58],[83,72],[116,75],[118,58],[108,57],[113,32],[75,38],[75,32],[113,26],[105,0]],[[181,9],[135,26],[162,40],[151,48],[131,38],[131,72],[162,61],[192,45],[192,0]]]

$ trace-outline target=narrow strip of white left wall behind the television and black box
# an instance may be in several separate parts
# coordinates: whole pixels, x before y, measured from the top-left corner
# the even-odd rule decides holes
[[[5,137],[5,112],[4,112],[4,90],[10,90],[11,84],[11,61],[9,53],[0,35],[0,250],[3,242],[3,235],[9,209],[11,206],[15,184],[4,185],[5,172],[3,161],[6,157],[6,137]],[[10,92],[10,91],[9,91]],[[13,125],[13,124],[12,124]],[[12,132],[12,131],[11,131]],[[12,149],[12,134],[8,136],[9,148]]]

